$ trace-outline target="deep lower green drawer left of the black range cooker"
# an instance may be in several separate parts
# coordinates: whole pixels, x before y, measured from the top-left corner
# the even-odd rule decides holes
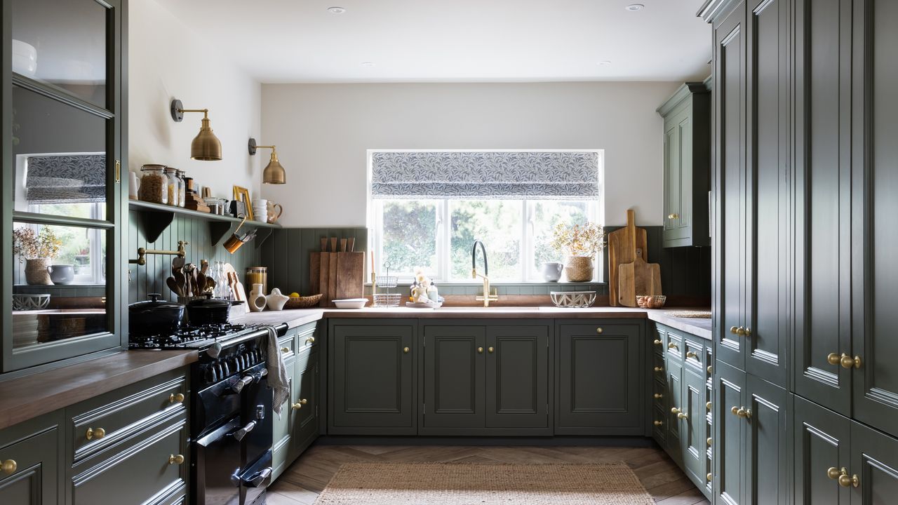
[[[73,505],[179,502],[187,492],[187,418],[158,423],[73,469]],[[180,461],[180,463],[179,463]]]

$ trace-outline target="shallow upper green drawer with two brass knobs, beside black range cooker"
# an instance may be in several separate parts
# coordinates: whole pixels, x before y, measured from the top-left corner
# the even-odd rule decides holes
[[[188,397],[187,377],[173,370],[66,408],[73,460],[110,447],[173,411],[187,412]]]

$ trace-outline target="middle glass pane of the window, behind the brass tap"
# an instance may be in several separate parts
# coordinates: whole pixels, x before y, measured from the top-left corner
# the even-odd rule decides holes
[[[451,200],[450,277],[471,279],[471,247],[480,239],[487,248],[490,280],[521,280],[520,200]],[[482,263],[478,260],[482,269]]]

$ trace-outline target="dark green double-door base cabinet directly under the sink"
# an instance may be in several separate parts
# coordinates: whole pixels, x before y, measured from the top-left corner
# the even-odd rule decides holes
[[[477,325],[475,325],[477,324]],[[549,435],[550,323],[422,323],[422,435]]]

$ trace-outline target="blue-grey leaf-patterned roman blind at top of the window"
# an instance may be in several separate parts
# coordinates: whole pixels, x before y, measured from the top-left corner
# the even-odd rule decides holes
[[[376,151],[375,199],[597,199],[594,151]]]

